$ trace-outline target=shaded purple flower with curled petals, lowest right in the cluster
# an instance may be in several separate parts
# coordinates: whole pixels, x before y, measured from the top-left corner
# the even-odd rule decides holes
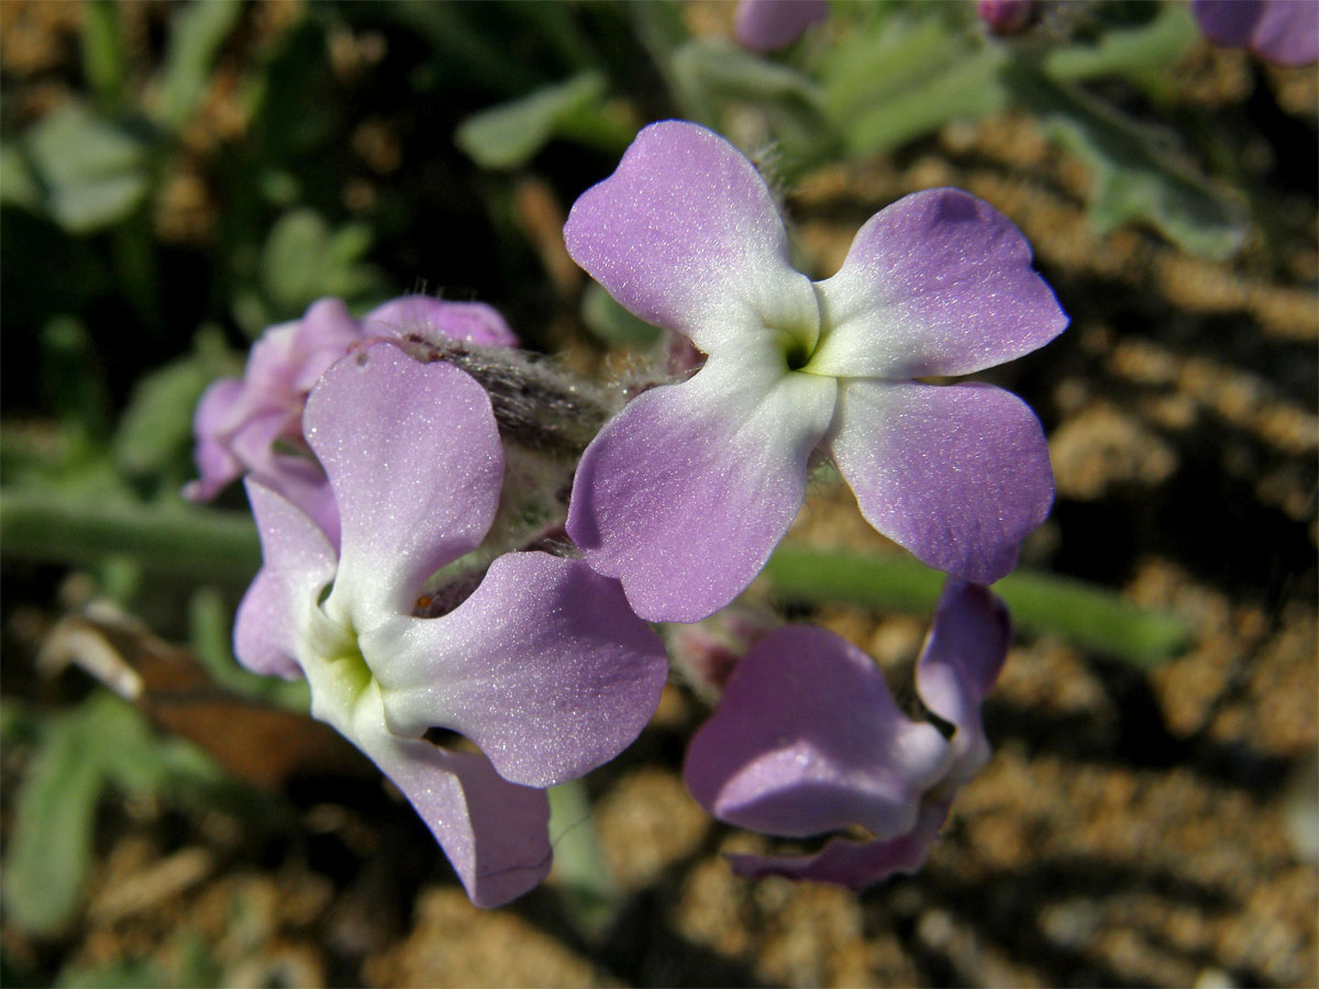
[[[687,748],[687,789],[739,827],[785,837],[861,827],[871,839],[733,854],[733,870],[860,890],[921,868],[955,791],[989,758],[980,703],[1008,638],[1008,612],[988,589],[948,582],[915,682],[951,738],[901,713],[874,661],[831,632],[786,626],[757,642]]]

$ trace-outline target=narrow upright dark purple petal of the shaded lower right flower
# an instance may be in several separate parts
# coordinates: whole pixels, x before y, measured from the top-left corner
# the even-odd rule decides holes
[[[940,786],[966,783],[989,760],[980,704],[1008,658],[1008,609],[987,587],[950,579],[915,667],[915,690],[956,728],[954,766]]]

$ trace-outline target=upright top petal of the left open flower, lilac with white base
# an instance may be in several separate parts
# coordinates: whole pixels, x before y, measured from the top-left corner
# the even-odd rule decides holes
[[[327,612],[350,609],[359,632],[410,614],[425,579],[474,550],[495,518],[504,455],[485,390],[376,343],[321,377],[303,427],[342,525]]]

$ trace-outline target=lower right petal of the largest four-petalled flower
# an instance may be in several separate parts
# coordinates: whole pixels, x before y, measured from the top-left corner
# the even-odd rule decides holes
[[[843,380],[827,448],[871,525],[977,584],[1013,568],[1054,497],[1039,419],[992,385]]]

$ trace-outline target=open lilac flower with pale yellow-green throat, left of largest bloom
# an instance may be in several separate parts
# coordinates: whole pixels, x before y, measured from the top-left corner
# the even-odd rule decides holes
[[[305,675],[313,715],[398,786],[472,901],[504,903],[549,869],[538,787],[637,736],[667,673],[663,646],[616,583],[543,553],[500,556],[455,609],[414,616],[427,578],[476,550],[499,506],[495,417],[463,372],[368,344],[324,372],[303,429],[340,543],[247,479],[264,566],[235,653],[257,673]],[[483,754],[433,745],[430,728]]]

